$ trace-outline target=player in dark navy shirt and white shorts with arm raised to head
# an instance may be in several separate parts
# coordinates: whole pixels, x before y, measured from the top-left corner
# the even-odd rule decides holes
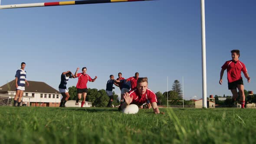
[[[69,78],[75,78],[75,75],[70,71],[62,72],[60,76],[61,81],[59,84],[59,92],[62,95],[62,99],[60,101],[59,107],[65,107],[66,102],[69,100],[69,90],[66,87]]]

